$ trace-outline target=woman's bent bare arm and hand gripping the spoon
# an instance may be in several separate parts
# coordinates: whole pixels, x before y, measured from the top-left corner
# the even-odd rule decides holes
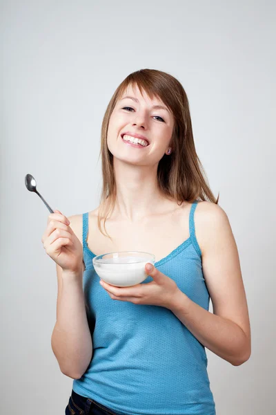
[[[70,224],[70,226],[69,226]],[[52,351],[61,372],[81,378],[92,359],[92,337],[83,294],[81,215],[66,216],[55,210],[42,237],[47,254],[57,266],[57,322]]]

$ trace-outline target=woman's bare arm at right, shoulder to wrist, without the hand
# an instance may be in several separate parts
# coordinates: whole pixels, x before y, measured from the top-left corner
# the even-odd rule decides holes
[[[200,202],[195,210],[195,230],[213,313],[182,291],[173,298],[170,310],[201,344],[232,365],[242,365],[251,354],[250,321],[228,216],[219,205]]]

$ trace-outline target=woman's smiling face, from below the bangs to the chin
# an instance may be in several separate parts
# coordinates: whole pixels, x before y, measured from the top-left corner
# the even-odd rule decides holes
[[[132,98],[126,98],[126,97]],[[154,108],[161,105],[165,108]],[[169,147],[174,117],[166,105],[159,99],[150,100],[146,92],[144,97],[139,89],[131,86],[118,100],[108,124],[108,149],[119,160],[135,165],[155,165],[164,156]],[[148,144],[131,145],[126,140],[132,134],[139,134],[148,140]]]

